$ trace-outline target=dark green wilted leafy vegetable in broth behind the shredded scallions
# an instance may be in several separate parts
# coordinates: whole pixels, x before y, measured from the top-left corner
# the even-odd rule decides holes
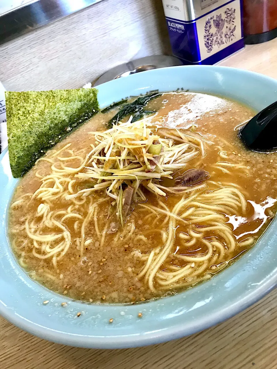
[[[114,117],[109,120],[107,124],[108,128],[112,128],[114,123],[121,121],[124,117],[126,117],[129,114],[136,114],[143,111],[143,108],[149,103],[150,100],[155,99],[156,97],[161,95],[162,95],[161,93],[156,92],[147,94],[138,97],[136,100],[132,101],[129,104],[124,105],[123,108],[120,109],[119,112],[116,113],[116,115],[114,115]]]

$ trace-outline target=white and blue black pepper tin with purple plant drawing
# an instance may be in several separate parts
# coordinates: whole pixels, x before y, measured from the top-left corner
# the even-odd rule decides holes
[[[163,0],[172,51],[184,64],[214,64],[244,47],[241,0]]]

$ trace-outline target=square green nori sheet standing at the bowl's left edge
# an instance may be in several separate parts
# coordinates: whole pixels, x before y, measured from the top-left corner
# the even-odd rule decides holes
[[[8,150],[15,178],[28,172],[48,149],[99,110],[97,92],[6,92]]]

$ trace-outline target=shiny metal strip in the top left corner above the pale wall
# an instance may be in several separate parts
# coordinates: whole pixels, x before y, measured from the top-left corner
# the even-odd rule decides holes
[[[0,0],[0,45],[102,0]]]

